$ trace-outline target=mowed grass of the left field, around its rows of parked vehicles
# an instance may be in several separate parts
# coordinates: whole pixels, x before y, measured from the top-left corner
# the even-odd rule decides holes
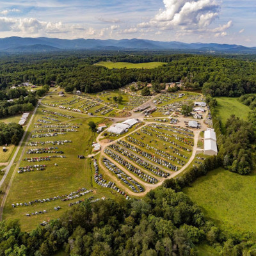
[[[43,109],[53,110],[50,108],[40,107],[35,116],[34,122],[38,122],[39,119],[44,118],[45,115],[42,112]],[[45,148],[45,147],[58,147],[58,150],[64,152],[63,156],[67,158],[54,158],[51,161],[41,161],[29,163],[28,161],[21,161],[19,166],[28,166],[34,164],[45,164],[46,168],[43,171],[33,171],[26,173],[15,173],[10,192],[4,205],[3,220],[7,219],[19,219],[22,225],[22,230],[32,230],[42,221],[48,221],[54,218],[59,218],[61,214],[70,209],[68,204],[74,203],[77,200],[84,200],[90,196],[94,198],[101,198],[106,196],[107,198],[113,197],[115,194],[111,193],[110,189],[103,189],[93,182],[93,170],[90,165],[90,160],[78,159],[78,154],[88,156],[92,152],[92,142],[95,141],[97,134],[92,132],[88,127],[88,122],[93,120],[95,123],[104,122],[104,118],[86,118],[84,115],[77,113],[70,113],[68,111],[61,111],[56,109],[58,113],[65,115],[73,115],[74,118],[68,119],[63,116],[53,116],[58,118],[61,125],[78,125],[78,132],[67,132],[67,134],[59,134],[54,137],[44,138],[30,138],[30,141],[57,141],[57,140],[71,140],[72,143],[66,143],[65,145],[52,145],[45,144],[36,147],[27,146],[26,151],[29,148]],[[48,117],[48,116],[46,116]],[[52,117],[52,116],[51,116]],[[44,119],[47,120],[47,119]],[[52,122],[52,121],[51,121]],[[59,122],[52,122],[47,125],[57,125]],[[42,124],[45,125],[45,124]],[[29,131],[38,129],[44,129],[42,126],[35,127],[31,125]],[[42,134],[42,133],[33,133]],[[26,152],[25,151],[25,152]],[[26,157],[42,157],[42,156],[54,156],[60,154],[24,154],[22,159]],[[55,165],[57,164],[57,166]],[[37,203],[29,206],[12,207],[12,204],[24,203],[32,200],[51,198],[58,195],[68,195],[77,189],[86,188],[93,189],[93,192],[87,195],[81,196],[79,199],[73,199],[67,202],[61,200],[55,200],[52,202]],[[115,195],[116,196],[116,195]],[[60,206],[60,211],[55,211],[54,207]],[[47,213],[39,214],[36,216],[26,217],[25,214],[35,211],[44,211]]]

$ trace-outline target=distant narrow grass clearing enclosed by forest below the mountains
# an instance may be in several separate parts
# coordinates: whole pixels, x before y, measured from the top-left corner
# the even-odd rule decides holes
[[[129,63],[129,62],[100,61],[95,65],[104,66],[107,68],[156,68],[163,64],[166,64],[166,63],[164,62]]]

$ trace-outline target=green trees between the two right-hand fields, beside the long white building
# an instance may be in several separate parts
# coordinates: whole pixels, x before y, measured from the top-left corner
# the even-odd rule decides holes
[[[241,100],[244,96],[241,97]],[[207,97],[211,108],[212,121],[218,142],[218,156],[221,157],[223,167],[230,172],[248,175],[253,172],[253,151],[255,144],[256,125],[251,120],[246,121],[231,115],[225,126],[221,127],[221,120],[216,115],[216,99]],[[249,115],[249,119],[252,114]]]

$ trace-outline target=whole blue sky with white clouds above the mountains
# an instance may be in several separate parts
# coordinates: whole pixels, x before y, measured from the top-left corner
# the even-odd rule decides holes
[[[1,1],[0,37],[145,38],[256,46],[256,1]]]

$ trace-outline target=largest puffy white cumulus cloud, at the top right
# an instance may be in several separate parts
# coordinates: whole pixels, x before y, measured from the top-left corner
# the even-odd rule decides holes
[[[164,9],[160,9],[155,17],[148,22],[141,22],[137,27],[225,36],[225,30],[232,25],[230,20],[227,24],[210,28],[220,15],[220,3],[216,0],[163,0],[163,3]]]

